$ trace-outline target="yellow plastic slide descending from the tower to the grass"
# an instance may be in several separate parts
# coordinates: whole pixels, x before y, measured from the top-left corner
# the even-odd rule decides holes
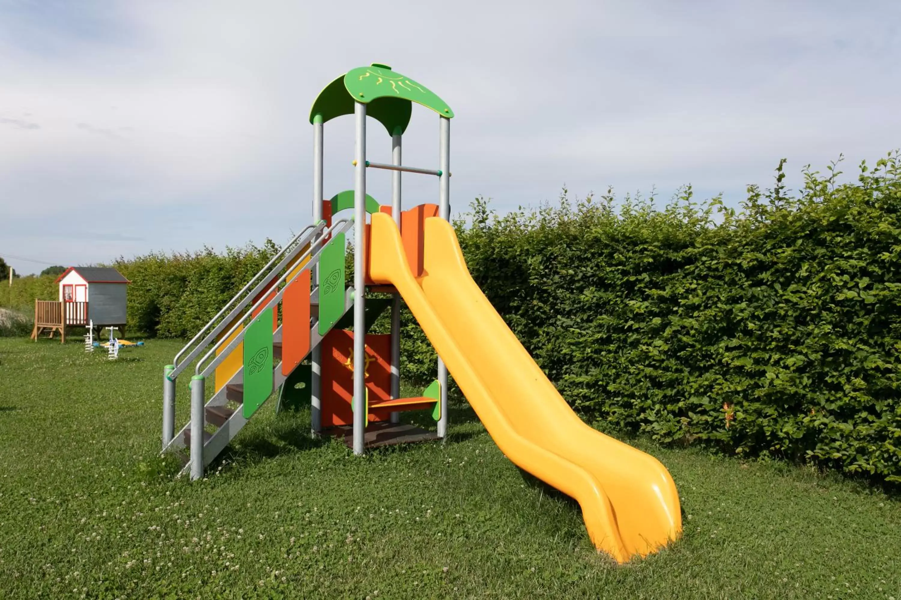
[[[394,285],[507,458],[578,501],[591,541],[618,562],[682,531],[676,485],[655,458],[569,408],[469,275],[447,221],[425,220],[418,280],[387,214],[373,214],[370,275]]]

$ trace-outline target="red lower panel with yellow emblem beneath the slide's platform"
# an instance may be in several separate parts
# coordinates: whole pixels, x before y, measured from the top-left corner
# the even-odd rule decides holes
[[[332,330],[323,339],[323,427],[353,425],[353,371],[349,359],[353,349],[353,332]],[[391,336],[366,336],[366,355],[369,358],[366,387],[369,405],[390,399]],[[369,422],[383,421],[387,414],[369,411]]]

